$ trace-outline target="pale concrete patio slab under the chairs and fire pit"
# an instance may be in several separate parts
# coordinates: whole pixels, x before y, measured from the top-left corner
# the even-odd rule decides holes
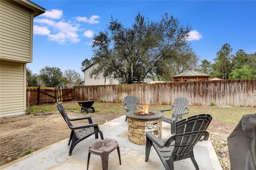
[[[119,164],[117,151],[114,150],[109,156],[108,169],[124,170],[163,170],[164,166],[156,154],[154,148],[151,148],[148,162],[145,162],[145,146],[137,145],[128,140],[127,122],[125,116],[119,117],[103,125],[100,125],[104,138],[117,140],[120,147],[122,165]],[[64,123],[64,122],[63,122]],[[170,125],[162,123],[162,138],[170,136]],[[68,156],[69,148],[68,138],[52,144],[46,148],[33,152],[18,160],[1,166],[2,170],[45,170],[45,169],[86,169],[87,155],[90,144],[96,142],[94,136],[78,143],[74,148],[72,155]],[[222,167],[212,143],[209,140],[198,142],[194,147],[195,159],[202,170],[221,170]],[[91,154],[89,169],[102,169],[100,156]],[[188,170],[195,169],[190,159],[174,162],[174,169]]]

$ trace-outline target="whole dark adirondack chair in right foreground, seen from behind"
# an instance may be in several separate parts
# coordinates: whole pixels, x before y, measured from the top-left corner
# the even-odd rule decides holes
[[[211,115],[195,115],[176,122],[175,135],[160,140],[151,132],[146,132],[145,162],[148,161],[150,148],[154,146],[166,170],[173,170],[173,162],[190,158],[196,168],[193,148],[198,141],[208,140],[206,131],[212,120]]]

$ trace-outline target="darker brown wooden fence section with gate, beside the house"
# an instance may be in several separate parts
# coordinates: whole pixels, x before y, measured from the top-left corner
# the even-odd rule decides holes
[[[54,87],[27,87],[27,105],[48,105],[57,101],[73,100],[73,89],[55,89]]]

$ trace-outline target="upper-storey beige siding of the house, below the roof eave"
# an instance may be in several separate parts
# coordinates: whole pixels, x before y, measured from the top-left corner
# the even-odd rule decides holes
[[[0,58],[32,62],[33,12],[12,1],[0,1]]]

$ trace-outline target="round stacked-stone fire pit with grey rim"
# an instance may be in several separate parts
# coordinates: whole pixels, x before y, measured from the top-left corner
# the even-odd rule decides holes
[[[146,132],[152,132],[161,139],[162,136],[162,119],[164,113],[159,111],[151,111],[151,116],[134,115],[137,111],[126,112],[128,117],[128,139],[140,145],[146,145]]]

